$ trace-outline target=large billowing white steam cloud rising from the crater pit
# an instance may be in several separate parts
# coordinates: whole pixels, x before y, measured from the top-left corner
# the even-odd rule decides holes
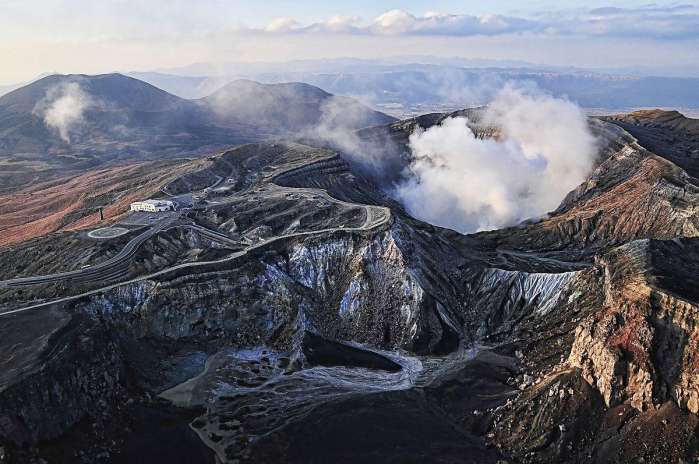
[[[414,161],[395,196],[415,217],[470,233],[516,224],[555,209],[592,169],[595,138],[575,104],[505,86],[474,134],[449,118],[410,137]]]

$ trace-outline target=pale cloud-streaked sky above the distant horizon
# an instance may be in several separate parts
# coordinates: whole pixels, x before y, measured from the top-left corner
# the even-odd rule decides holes
[[[681,67],[699,59],[699,2],[0,0],[0,84],[397,55]]]

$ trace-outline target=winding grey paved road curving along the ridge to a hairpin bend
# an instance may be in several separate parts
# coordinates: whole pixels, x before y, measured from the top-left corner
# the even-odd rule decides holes
[[[270,237],[267,239],[263,239],[255,244],[252,244],[248,246],[245,250],[241,250],[239,252],[235,252],[226,258],[219,259],[219,260],[214,260],[214,261],[198,261],[198,262],[192,262],[192,263],[183,263],[183,264],[178,264],[176,266],[169,267],[167,269],[163,269],[161,271],[144,275],[144,276],[139,276],[135,279],[131,279],[125,282],[119,282],[113,285],[108,285],[105,287],[101,287],[99,289],[91,290],[89,292],[81,293],[79,295],[73,295],[65,298],[60,298],[57,300],[52,300],[52,301],[47,301],[45,303],[39,303],[31,306],[27,306],[25,308],[19,308],[15,309],[12,311],[7,311],[0,313],[0,317],[2,316],[7,316],[10,314],[16,314],[20,313],[23,311],[28,311],[28,310],[33,310],[33,309],[39,309],[39,308],[45,308],[49,307],[53,304],[57,303],[63,303],[67,301],[72,301],[76,300],[78,298],[82,298],[85,296],[89,295],[95,295],[101,292],[105,292],[117,287],[120,287],[122,285],[128,285],[131,283],[135,282],[140,282],[144,280],[149,280],[158,276],[162,276],[165,274],[168,274],[170,272],[179,270],[179,269],[194,269],[197,267],[201,266],[208,266],[211,264],[219,264],[219,263],[225,263],[229,261],[233,261],[235,259],[240,258],[241,256],[245,256],[248,252],[256,250],[258,248],[264,247],[266,245],[269,245],[271,243],[277,242],[279,240],[284,240],[284,239],[290,239],[290,238],[297,238],[297,237],[306,237],[306,236],[312,236],[312,235],[323,235],[323,234],[328,234],[332,232],[338,232],[338,231],[345,231],[345,232],[359,232],[359,231],[367,231],[371,230],[377,227],[381,227],[385,224],[387,224],[390,219],[391,219],[391,210],[389,208],[383,207],[383,206],[374,206],[374,205],[363,205],[363,204],[357,204],[357,203],[348,203],[345,201],[338,200],[336,198],[333,198],[326,192],[325,190],[321,189],[315,189],[315,188],[289,188],[289,187],[280,187],[283,189],[288,189],[289,191],[293,191],[296,193],[307,193],[315,196],[321,196],[325,198],[328,201],[335,202],[341,205],[345,205],[348,207],[361,207],[364,208],[365,210],[365,219],[362,225],[358,227],[332,227],[332,228],[326,228],[326,229],[319,229],[319,230],[313,230],[313,231],[306,231],[306,232],[294,232],[294,233],[289,233],[289,234],[283,234],[283,235],[278,235],[274,237]],[[123,263],[124,260],[128,264],[128,261],[131,256],[136,252],[138,249],[138,246],[143,243],[145,240],[153,236],[155,233],[164,230],[166,227],[171,225],[172,221],[164,221],[163,223],[159,224],[158,226],[142,233],[138,237],[134,238],[131,240],[124,250],[122,250],[118,255],[114,256],[113,258],[110,258],[109,260],[105,261],[104,263],[101,263],[100,265],[93,266],[91,268],[87,269],[80,269],[76,271],[70,271],[70,272],[64,272],[60,274],[51,274],[48,276],[38,276],[38,277],[24,277],[20,279],[12,279],[9,281],[4,281],[0,282],[0,287],[1,286],[21,286],[21,285],[34,285],[38,283],[47,283],[47,282],[54,282],[57,280],[64,280],[66,278],[84,278],[87,277],[88,279],[91,277],[102,277],[103,275],[112,275],[114,266],[118,263]],[[194,227],[194,228],[201,228],[200,226],[192,226],[192,225],[187,225],[186,227]],[[201,228],[204,229],[204,228]],[[209,233],[216,234],[221,237],[225,237],[221,234],[218,234],[217,232],[210,231],[209,229],[204,229]],[[227,237],[225,237],[227,238]],[[99,268],[98,268],[99,266]],[[101,272],[101,274],[100,274]]]

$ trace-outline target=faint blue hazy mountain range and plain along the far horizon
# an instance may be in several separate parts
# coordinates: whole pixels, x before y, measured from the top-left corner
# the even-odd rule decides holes
[[[433,63],[311,60],[285,66],[196,64],[162,73],[133,75],[187,98],[208,95],[212,89],[238,78],[267,83],[305,82],[335,95],[360,99],[399,117],[481,105],[509,81],[535,83],[545,92],[565,96],[582,107],[609,112],[647,107],[699,108],[699,77],[658,77],[653,72],[662,74],[656,68],[593,71],[531,63],[444,59]],[[673,70],[667,72],[677,74]],[[699,75],[691,69],[686,72],[688,76]]]

